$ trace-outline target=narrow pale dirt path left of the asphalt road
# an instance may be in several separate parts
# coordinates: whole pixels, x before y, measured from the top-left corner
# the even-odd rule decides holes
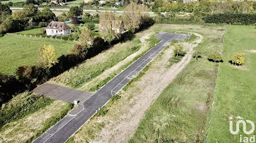
[[[102,74],[100,74],[99,76],[95,77],[94,80],[91,80],[90,82],[87,82],[85,85],[83,85],[80,90],[89,90],[90,88],[92,88],[97,82],[100,82],[102,80],[105,80],[105,78],[107,78],[110,74],[114,73],[116,70],[118,70],[119,68],[121,68],[121,66],[124,66],[125,64],[127,64],[129,61],[132,61],[133,58],[135,58],[137,55],[140,55],[141,53],[143,53],[147,48],[148,48],[148,43],[146,43],[146,39],[149,39],[150,36],[153,33],[146,33],[144,36],[142,36],[140,38],[140,42],[142,43],[142,46],[140,47],[140,50],[138,50],[137,52],[133,53],[132,55],[129,55],[127,58],[125,58],[123,61],[120,61],[119,63],[117,63],[115,66],[111,67],[110,69],[107,69],[106,71],[104,71]]]

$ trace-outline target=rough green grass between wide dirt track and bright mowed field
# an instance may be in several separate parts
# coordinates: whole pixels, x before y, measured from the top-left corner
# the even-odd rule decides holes
[[[194,49],[202,51],[203,58],[193,58],[162,91],[129,142],[203,142],[219,65],[209,62],[207,55],[222,48],[225,27],[157,25],[154,29],[203,35],[203,41]]]

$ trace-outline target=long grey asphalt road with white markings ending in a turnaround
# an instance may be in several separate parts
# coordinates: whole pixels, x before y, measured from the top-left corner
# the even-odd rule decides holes
[[[113,80],[100,88],[96,93],[83,102],[83,108],[76,109],[77,114],[69,114],[59,123],[53,125],[45,134],[39,136],[34,143],[37,142],[53,142],[62,143],[69,139],[75,131],[86,123],[89,118],[94,115],[99,108],[104,106],[111,96],[115,95],[118,90],[124,87],[139,71],[141,71],[149,62],[152,61],[173,39],[183,40],[189,39],[190,35],[159,33],[157,38],[162,39],[158,45],[149,50],[145,55],[132,63],[127,69],[121,71]]]

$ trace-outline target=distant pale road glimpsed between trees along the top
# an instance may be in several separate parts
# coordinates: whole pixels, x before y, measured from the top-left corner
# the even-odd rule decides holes
[[[18,10],[23,9],[22,7],[10,7],[10,9]],[[38,10],[42,10],[42,8],[38,8]],[[69,9],[50,9],[52,11],[63,11],[63,12],[69,12]],[[116,12],[116,13],[123,13],[124,11],[116,11],[116,10],[91,10],[91,9],[83,9],[83,12]],[[149,14],[155,13],[155,12],[148,12]],[[167,12],[161,12],[162,14],[165,14]]]

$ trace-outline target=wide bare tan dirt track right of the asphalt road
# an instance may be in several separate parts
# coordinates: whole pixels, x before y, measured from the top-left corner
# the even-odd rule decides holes
[[[194,33],[193,33],[194,34]],[[173,48],[168,48],[153,63],[146,74],[138,82],[134,82],[132,88],[122,94],[124,96],[133,95],[128,99],[128,103],[122,104],[116,111],[114,120],[109,121],[108,125],[100,131],[93,142],[127,142],[135,134],[136,129],[143,118],[146,110],[151,106],[154,100],[162,93],[162,90],[176,78],[177,74],[187,66],[192,58],[193,48],[196,47],[203,36],[195,34],[200,38],[195,42],[181,42],[181,45],[187,47],[187,54],[178,63],[167,68],[170,55]],[[135,87],[137,89],[135,89]]]

